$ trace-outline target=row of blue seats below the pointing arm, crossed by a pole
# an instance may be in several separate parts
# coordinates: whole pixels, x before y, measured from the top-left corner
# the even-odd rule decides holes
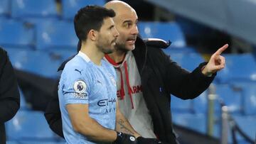
[[[239,83],[242,84],[242,83]],[[230,113],[234,115],[253,116],[256,115],[256,82],[244,83],[238,92],[230,84],[215,84],[216,100],[215,114],[220,114],[220,101],[229,106]],[[193,100],[181,100],[175,96],[171,97],[171,110],[181,113],[207,113],[208,91]]]

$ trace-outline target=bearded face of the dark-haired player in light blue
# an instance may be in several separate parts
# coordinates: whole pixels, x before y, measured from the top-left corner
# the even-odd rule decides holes
[[[97,48],[105,54],[113,52],[118,35],[113,19],[105,18],[98,34]]]

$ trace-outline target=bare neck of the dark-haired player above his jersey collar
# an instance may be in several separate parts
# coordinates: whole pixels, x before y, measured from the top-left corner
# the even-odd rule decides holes
[[[101,65],[101,60],[104,57],[104,53],[96,47],[96,45],[86,45],[82,43],[80,52],[85,53],[95,65]]]

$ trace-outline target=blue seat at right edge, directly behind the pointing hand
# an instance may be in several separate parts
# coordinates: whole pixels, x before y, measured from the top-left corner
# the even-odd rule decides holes
[[[230,54],[225,56],[225,68],[218,72],[217,79],[220,83],[233,80],[256,80],[256,62],[252,54]]]

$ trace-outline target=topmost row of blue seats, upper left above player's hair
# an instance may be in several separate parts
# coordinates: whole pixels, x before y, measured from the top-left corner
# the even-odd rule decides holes
[[[103,6],[105,0],[62,0],[62,11],[57,9],[55,0],[1,0],[0,15],[12,18],[63,18],[73,20],[82,6],[97,4]]]

